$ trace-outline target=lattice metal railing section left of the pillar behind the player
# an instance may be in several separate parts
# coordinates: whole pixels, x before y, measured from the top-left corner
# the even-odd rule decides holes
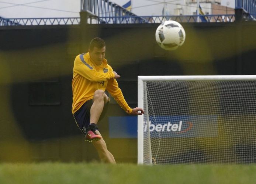
[[[15,25],[75,25],[80,24],[80,17],[75,18],[1,18],[0,26]]]

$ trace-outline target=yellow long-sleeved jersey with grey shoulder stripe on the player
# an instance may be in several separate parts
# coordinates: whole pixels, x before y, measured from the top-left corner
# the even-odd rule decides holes
[[[101,65],[96,65],[91,60],[89,53],[76,56],[72,79],[72,113],[74,114],[80,109],[87,100],[93,99],[94,92],[97,89],[103,91],[107,89],[122,109],[131,114],[132,109],[125,101],[114,77],[113,69],[108,65],[106,59],[103,59]]]

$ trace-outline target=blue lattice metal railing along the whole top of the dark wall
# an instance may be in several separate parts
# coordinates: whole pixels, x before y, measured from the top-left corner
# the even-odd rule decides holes
[[[116,16],[116,17],[95,17],[89,16],[89,24],[151,24],[162,23],[167,20],[177,22],[198,22],[201,15],[180,15],[180,16]],[[204,15],[207,22],[234,22],[235,15]],[[201,22],[199,20],[199,22]],[[28,26],[28,25],[78,25],[80,17],[76,18],[1,18],[0,26]]]

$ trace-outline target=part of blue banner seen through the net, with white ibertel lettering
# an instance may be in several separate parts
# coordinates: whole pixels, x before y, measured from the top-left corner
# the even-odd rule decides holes
[[[144,132],[147,129],[144,122]],[[149,131],[152,138],[217,137],[218,120],[216,115],[150,116]]]

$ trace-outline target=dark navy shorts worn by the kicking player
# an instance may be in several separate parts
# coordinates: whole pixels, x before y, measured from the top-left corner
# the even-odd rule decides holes
[[[103,111],[102,111],[98,121],[100,121],[107,113],[108,103],[109,102],[104,104]],[[90,110],[91,110],[92,105],[93,105],[93,99],[88,100],[82,105],[82,107],[80,107],[79,110],[77,110],[73,114],[76,124],[79,127],[79,129],[83,132],[83,134],[86,134],[87,127],[90,124],[90,117],[91,117]],[[94,122],[92,122],[92,123],[94,123]]]

